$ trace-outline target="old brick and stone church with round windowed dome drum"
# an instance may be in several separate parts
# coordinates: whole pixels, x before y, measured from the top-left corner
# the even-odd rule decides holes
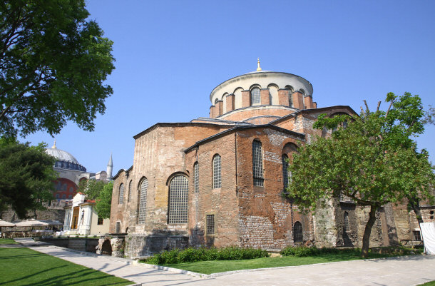
[[[133,165],[113,177],[110,228],[126,237],[125,254],[188,245],[360,246],[367,209],[344,198],[303,215],[282,196],[298,145],[330,135],[312,128],[317,116],[355,114],[349,106],[318,108],[312,93],[305,78],[262,71],[258,62],[257,71],[213,89],[209,118],[156,123],[133,136]],[[424,212],[432,220],[433,210]],[[386,205],[377,218],[372,246],[418,238],[406,206]]]

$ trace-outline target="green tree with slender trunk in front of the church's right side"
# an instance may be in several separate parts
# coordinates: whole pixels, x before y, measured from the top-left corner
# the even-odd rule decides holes
[[[289,197],[302,210],[324,207],[328,200],[346,195],[358,205],[369,206],[362,256],[367,257],[376,211],[404,198],[433,199],[434,168],[425,152],[417,153],[410,136],[423,133],[419,96],[387,95],[387,112],[362,109],[361,116],[319,116],[314,128],[337,128],[329,138],[300,148],[289,165]]]

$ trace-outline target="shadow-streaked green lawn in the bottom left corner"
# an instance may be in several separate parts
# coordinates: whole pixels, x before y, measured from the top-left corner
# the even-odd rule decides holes
[[[0,285],[131,285],[133,282],[29,248],[0,248]]]

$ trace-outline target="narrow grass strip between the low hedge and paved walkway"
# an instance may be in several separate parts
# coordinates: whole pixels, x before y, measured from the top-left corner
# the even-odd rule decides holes
[[[391,257],[397,256],[387,255],[387,254],[377,254],[370,253],[369,258],[381,258],[381,257]],[[338,262],[338,261],[348,261],[348,260],[359,260],[360,252],[352,253],[327,253],[323,255],[317,255],[312,257],[295,257],[295,256],[284,256],[284,257],[264,257],[256,258],[251,260],[213,260],[213,261],[201,261],[201,262],[188,262],[188,263],[177,263],[177,264],[167,264],[164,266],[203,273],[212,274],[225,271],[233,270],[244,270],[244,269],[255,269],[255,268],[269,268],[269,267],[282,267],[282,266],[297,266],[297,265],[308,265],[315,263],[324,262]]]

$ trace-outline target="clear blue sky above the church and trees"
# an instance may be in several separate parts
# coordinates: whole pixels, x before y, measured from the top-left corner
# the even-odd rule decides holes
[[[88,170],[133,164],[133,136],[158,122],[208,116],[222,81],[263,70],[310,81],[317,106],[372,108],[408,91],[435,106],[435,1],[88,0],[114,41],[113,96],[93,133],[68,123],[56,136]],[[387,108],[387,104],[382,104]],[[435,162],[435,128],[417,141]],[[26,141],[53,144],[45,133]]]

